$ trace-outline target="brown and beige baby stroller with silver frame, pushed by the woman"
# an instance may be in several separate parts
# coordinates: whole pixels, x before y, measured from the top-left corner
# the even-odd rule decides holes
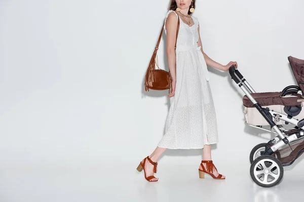
[[[287,86],[281,92],[256,93],[235,66],[229,69],[232,79],[246,94],[245,123],[276,135],[269,142],[254,146],[249,155],[251,179],[262,187],[278,185],[283,167],[290,166],[304,151],[304,60],[289,56],[288,61],[298,86]]]

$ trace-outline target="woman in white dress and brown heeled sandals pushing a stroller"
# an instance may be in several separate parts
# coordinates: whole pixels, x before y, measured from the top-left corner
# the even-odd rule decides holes
[[[204,173],[214,179],[225,179],[217,172],[211,159],[211,144],[218,142],[215,109],[209,86],[207,65],[228,71],[236,62],[223,66],[210,59],[203,51],[200,25],[190,14],[195,10],[195,0],[171,0],[165,20],[167,58],[172,76],[170,109],[165,135],[154,152],[144,158],[138,171],[144,170],[146,180],[155,182],[157,161],[167,148],[203,148],[203,161],[199,167],[200,178]],[[175,49],[176,27],[180,21]],[[207,65],[206,65],[207,64]]]

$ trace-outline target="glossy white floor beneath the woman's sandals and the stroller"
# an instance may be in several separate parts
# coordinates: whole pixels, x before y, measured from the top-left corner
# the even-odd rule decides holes
[[[0,167],[1,202],[67,201],[299,201],[304,175],[285,167],[276,187],[262,188],[249,176],[249,165],[217,164],[226,180],[199,179],[198,165],[159,165],[158,182],[147,182],[137,164],[15,165]]]

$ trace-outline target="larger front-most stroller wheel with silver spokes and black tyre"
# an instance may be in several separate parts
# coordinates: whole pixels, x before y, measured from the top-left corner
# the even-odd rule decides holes
[[[278,185],[283,178],[284,169],[281,162],[269,155],[256,158],[250,166],[251,179],[261,187]]]

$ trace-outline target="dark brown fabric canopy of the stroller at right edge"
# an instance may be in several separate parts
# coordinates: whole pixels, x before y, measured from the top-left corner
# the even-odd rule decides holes
[[[289,56],[288,61],[290,63],[294,77],[301,91],[304,93],[304,60]]]

